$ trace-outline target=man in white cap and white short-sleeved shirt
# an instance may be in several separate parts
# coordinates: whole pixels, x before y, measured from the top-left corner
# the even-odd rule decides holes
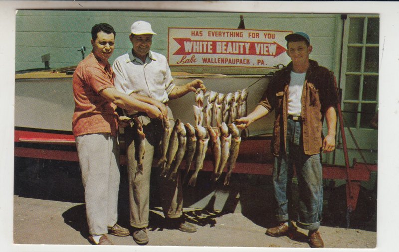
[[[139,101],[162,108],[164,117],[173,119],[172,111],[167,104],[169,99],[176,99],[205,87],[198,79],[183,86],[176,86],[166,57],[150,51],[153,35],[156,33],[152,30],[150,23],[137,21],[132,24],[129,38],[133,49],[119,56],[113,64],[115,87]],[[133,114],[138,116],[146,135],[143,171],[138,172],[134,144],[137,131],[132,125],[125,127],[130,225],[134,229],[133,240],[139,245],[145,245],[149,242],[146,228],[149,224],[151,168],[154,154],[157,153],[162,138],[163,124],[161,120],[151,119],[145,113],[134,111],[124,111],[124,113],[127,116]],[[171,120],[170,123],[171,126],[174,125]],[[184,219],[180,176],[175,181],[169,180],[169,177],[157,177],[160,178],[159,191],[167,227],[183,232],[196,232],[196,227],[185,222]]]

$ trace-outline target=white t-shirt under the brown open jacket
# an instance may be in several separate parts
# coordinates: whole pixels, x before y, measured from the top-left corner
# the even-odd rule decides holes
[[[302,111],[301,98],[306,73],[291,72],[291,81],[288,87],[288,115],[300,116]]]

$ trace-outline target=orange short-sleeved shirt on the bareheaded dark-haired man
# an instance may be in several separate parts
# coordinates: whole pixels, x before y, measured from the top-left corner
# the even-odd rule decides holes
[[[92,133],[117,135],[116,105],[108,102],[99,92],[114,87],[114,73],[110,64],[102,66],[90,53],[76,67],[72,79],[75,112],[72,117],[74,136]]]

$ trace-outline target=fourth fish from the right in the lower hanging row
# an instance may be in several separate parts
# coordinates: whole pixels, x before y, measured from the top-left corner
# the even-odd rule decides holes
[[[189,185],[196,186],[198,172],[203,167],[203,160],[205,159],[205,153],[208,148],[209,138],[206,137],[206,129],[202,126],[196,126],[197,134],[197,149],[196,149],[196,159],[195,159],[195,172],[190,178]]]

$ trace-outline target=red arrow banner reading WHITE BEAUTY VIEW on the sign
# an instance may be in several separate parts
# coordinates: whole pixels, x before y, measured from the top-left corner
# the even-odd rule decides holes
[[[179,49],[173,55],[191,54],[235,54],[235,55],[262,55],[274,58],[284,53],[286,49],[273,41],[247,42],[247,41],[215,41],[215,40],[192,40],[191,38],[173,38]]]

